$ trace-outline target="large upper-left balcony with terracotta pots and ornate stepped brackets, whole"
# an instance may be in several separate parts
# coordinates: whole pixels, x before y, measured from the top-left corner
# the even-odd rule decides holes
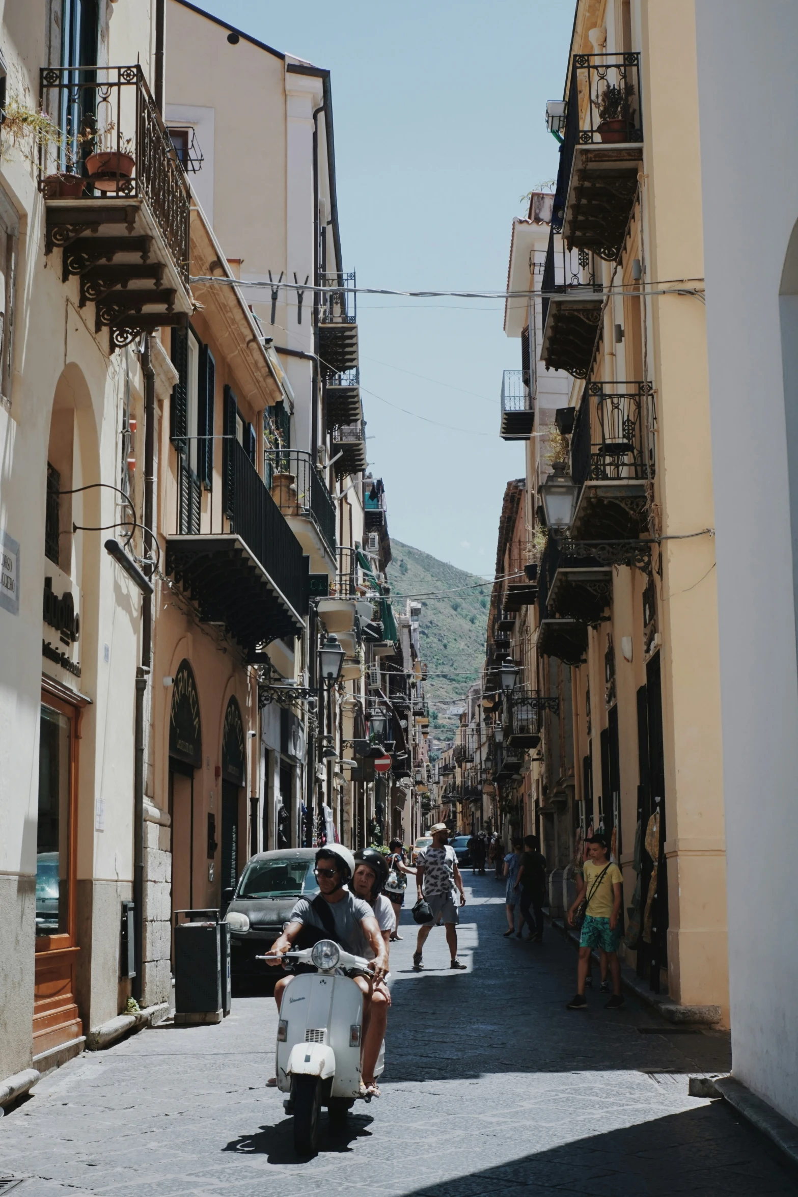
[[[185,324],[190,189],[141,67],[45,67],[39,86],[54,121],[38,166],[45,254],[62,250],[111,353]]]

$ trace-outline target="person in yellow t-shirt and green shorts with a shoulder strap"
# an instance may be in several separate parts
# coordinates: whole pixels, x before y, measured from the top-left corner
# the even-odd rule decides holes
[[[583,865],[579,893],[568,911],[568,923],[573,925],[574,911],[584,898],[587,899],[579,940],[579,989],[575,997],[568,1002],[567,1009],[587,1009],[587,998],[585,997],[587,966],[590,953],[593,948],[598,948],[602,958],[607,959],[613,978],[613,996],[605,1003],[604,1009],[620,1010],[623,1005],[623,995],[621,992],[621,964],[617,959],[617,949],[621,942],[620,916],[623,875],[617,864],[613,864],[607,855],[607,838],[604,836],[592,836],[587,840],[587,852],[589,858]]]

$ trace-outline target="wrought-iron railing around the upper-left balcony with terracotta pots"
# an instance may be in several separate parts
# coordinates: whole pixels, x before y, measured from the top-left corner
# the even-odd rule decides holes
[[[41,107],[57,128],[41,151],[44,196],[146,200],[188,287],[190,189],[141,67],[44,67]]]

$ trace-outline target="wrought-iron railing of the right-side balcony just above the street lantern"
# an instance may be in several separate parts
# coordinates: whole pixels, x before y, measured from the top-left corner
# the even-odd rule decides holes
[[[571,437],[574,481],[653,478],[653,417],[650,382],[589,383]]]

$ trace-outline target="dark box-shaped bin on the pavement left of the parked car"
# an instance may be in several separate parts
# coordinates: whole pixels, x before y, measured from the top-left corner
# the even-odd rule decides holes
[[[183,916],[183,920],[181,920]],[[218,910],[175,911],[175,1022],[221,1022],[223,931]],[[229,948],[226,958],[229,959]],[[225,972],[229,968],[225,959]]]

